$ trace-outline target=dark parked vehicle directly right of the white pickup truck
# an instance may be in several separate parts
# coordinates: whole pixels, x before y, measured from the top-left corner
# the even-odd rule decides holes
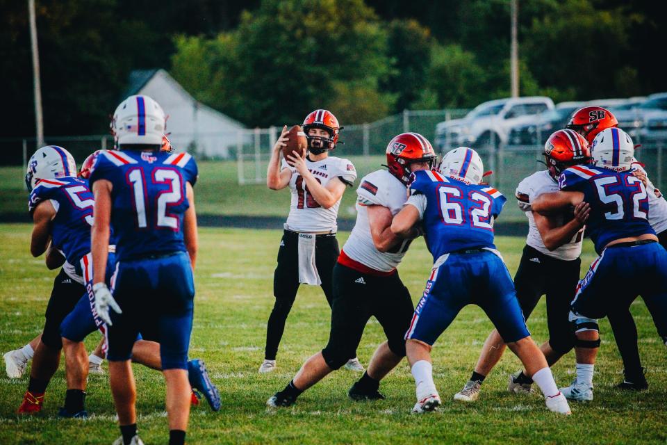
[[[565,128],[573,113],[582,108],[583,102],[561,102],[553,110],[536,116],[536,122],[516,125],[509,131],[510,145],[543,145],[551,133]]]

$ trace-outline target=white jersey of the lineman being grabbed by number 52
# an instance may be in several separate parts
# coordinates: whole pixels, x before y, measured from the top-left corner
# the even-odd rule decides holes
[[[549,175],[547,170],[542,170],[541,172],[533,173],[519,183],[519,186],[516,188],[516,197],[520,209],[525,211],[526,216],[528,217],[529,229],[526,244],[549,257],[571,261],[579,258],[579,255],[582,254],[584,229],[575,234],[573,239],[568,243],[561,245],[561,247],[554,251],[550,251],[545,247],[544,241],[542,241],[542,236],[537,229],[535,218],[530,207],[530,202],[539,195],[557,191],[559,191],[558,182]],[[562,223],[563,222],[561,221],[561,224]]]

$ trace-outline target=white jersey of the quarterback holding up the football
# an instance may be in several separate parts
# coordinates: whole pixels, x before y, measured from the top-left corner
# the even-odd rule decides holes
[[[354,184],[354,179],[356,179],[354,165],[347,159],[327,156],[320,161],[312,162],[306,158],[306,166],[324,187],[333,178],[339,178],[350,186]],[[304,177],[299,175],[299,172],[284,159],[283,168],[289,168],[292,171],[292,178],[290,179],[292,202],[286,227],[294,232],[336,232],[336,218],[338,217],[340,200],[329,209],[324,209],[308,192]]]

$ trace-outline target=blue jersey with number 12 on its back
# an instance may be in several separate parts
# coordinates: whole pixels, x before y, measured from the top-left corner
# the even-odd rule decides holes
[[[98,179],[112,184],[117,261],[186,252],[186,182],[197,181],[197,163],[190,154],[104,150],[90,172],[91,188]]]

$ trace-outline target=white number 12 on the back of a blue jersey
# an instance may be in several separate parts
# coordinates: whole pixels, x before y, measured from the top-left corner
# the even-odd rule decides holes
[[[127,179],[132,185],[134,209],[137,214],[137,225],[139,228],[147,227],[147,202],[146,202],[146,179],[144,171],[140,168],[129,170]],[[158,228],[179,229],[179,218],[168,212],[170,207],[177,206],[183,202],[181,192],[181,175],[171,168],[156,168],[151,177],[152,184],[168,184],[169,190],[160,191],[156,194],[155,222]]]

